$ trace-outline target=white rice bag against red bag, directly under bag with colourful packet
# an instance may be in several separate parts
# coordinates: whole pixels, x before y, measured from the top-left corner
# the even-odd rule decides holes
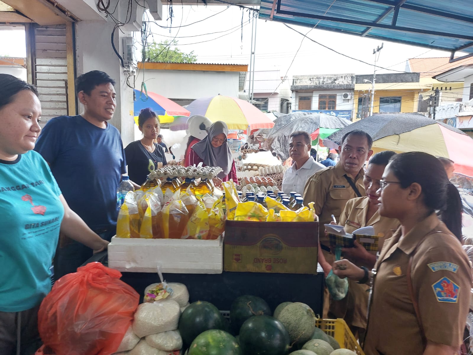
[[[173,300],[141,303],[135,312],[133,332],[140,338],[177,329],[181,310]]]

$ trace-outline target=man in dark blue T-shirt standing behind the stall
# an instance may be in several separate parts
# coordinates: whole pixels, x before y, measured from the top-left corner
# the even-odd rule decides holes
[[[103,71],[79,76],[76,92],[84,112],[51,119],[35,146],[70,208],[105,240],[116,231],[116,189],[126,173],[120,133],[107,122],[116,106],[114,84]],[[92,249],[61,236],[54,258],[55,279],[76,272],[92,255]]]

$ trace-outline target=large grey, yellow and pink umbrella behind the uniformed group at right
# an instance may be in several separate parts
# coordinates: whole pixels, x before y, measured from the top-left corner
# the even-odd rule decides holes
[[[473,177],[473,139],[452,126],[417,113],[377,114],[333,133],[324,145],[338,149],[343,135],[355,129],[371,135],[375,153],[423,151],[455,161],[455,172]]]

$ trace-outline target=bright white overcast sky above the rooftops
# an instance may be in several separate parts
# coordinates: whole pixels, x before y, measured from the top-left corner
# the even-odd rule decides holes
[[[173,12],[172,27],[175,28],[161,28],[151,24],[153,35],[149,37],[149,41],[160,42],[175,38],[179,41],[178,47],[182,51],[194,51],[198,62],[250,63],[252,28],[248,23],[249,10],[236,6],[183,7],[175,4]],[[163,9],[165,19],[158,21],[159,25],[171,26],[168,13],[169,8],[165,6]],[[243,29],[241,28],[242,18]],[[194,23],[196,21],[199,22]],[[373,72],[372,65],[334,53],[307,38],[303,40],[302,35],[280,22],[258,19],[256,23],[256,70],[279,69],[281,76],[287,72],[289,77],[305,74],[371,74]],[[309,27],[291,26],[302,33],[310,30]],[[310,30],[308,37],[337,52],[368,63],[374,63],[373,49],[382,43],[376,39],[339,34],[317,28]],[[24,43],[24,31],[0,31],[0,55],[26,56]],[[140,47],[140,43],[136,45]],[[404,71],[408,58],[448,55],[447,52],[384,41],[377,64],[391,70]],[[379,70],[377,72],[395,71]]]

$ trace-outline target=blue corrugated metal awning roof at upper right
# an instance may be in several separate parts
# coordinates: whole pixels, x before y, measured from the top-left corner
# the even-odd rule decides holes
[[[473,53],[472,0],[261,0],[259,18]]]

